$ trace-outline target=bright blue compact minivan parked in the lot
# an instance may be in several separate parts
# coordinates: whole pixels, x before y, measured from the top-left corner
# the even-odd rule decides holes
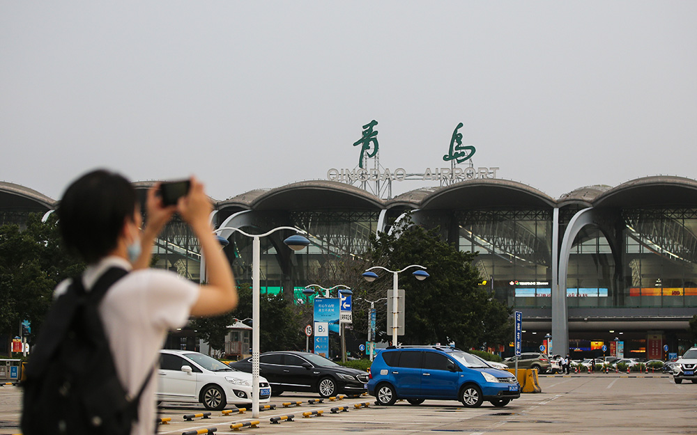
[[[368,393],[378,404],[406,399],[418,405],[426,399],[459,400],[468,408],[484,400],[506,406],[520,397],[520,384],[505,370],[451,347],[388,347],[370,367]]]

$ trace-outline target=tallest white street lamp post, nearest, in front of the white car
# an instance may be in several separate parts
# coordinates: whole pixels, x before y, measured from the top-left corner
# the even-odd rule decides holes
[[[266,237],[279,230],[304,232],[293,227],[278,227],[263,234],[248,234],[236,227],[223,227],[215,230],[215,234],[223,231],[239,232],[241,235],[252,237],[252,418],[259,418],[259,269],[261,263],[261,237]],[[309,245],[309,240],[301,235],[292,235],[283,241],[293,251],[300,251]]]

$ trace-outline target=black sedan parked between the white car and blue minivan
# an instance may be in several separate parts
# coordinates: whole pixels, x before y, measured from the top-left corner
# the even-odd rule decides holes
[[[252,358],[229,364],[242,372],[252,372]],[[271,384],[271,394],[309,391],[321,397],[338,393],[365,393],[368,374],[342,367],[323,356],[296,351],[266,352],[259,356],[259,374]]]

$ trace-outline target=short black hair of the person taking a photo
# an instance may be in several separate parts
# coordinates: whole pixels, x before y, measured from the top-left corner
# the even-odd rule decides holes
[[[137,196],[123,176],[98,169],[72,182],[58,206],[66,247],[87,263],[116,248],[125,219],[133,219]]]

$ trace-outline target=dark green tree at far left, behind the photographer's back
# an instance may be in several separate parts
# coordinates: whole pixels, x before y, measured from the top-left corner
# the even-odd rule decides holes
[[[35,337],[61,280],[77,276],[84,263],[61,244],[57,218],[43,222],[32,214],[26,228],[0,227],[0,333],[12,338],[23,320],[31,322]]]

